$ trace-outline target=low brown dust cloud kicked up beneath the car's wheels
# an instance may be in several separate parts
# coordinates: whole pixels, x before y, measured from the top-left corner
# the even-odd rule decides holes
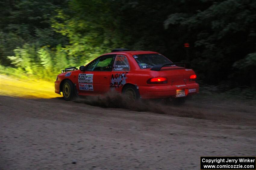
[[[113,91],[99,96],[76,97],[74,102],[103,108],[121,108],[137,112],[154,112],[179,117],[204,119],[204,114],[199,110],[191,110],[182,105],[175,105],[171,100],[168,102],[164,99],[139,99],[132,101],[125,95]]]

